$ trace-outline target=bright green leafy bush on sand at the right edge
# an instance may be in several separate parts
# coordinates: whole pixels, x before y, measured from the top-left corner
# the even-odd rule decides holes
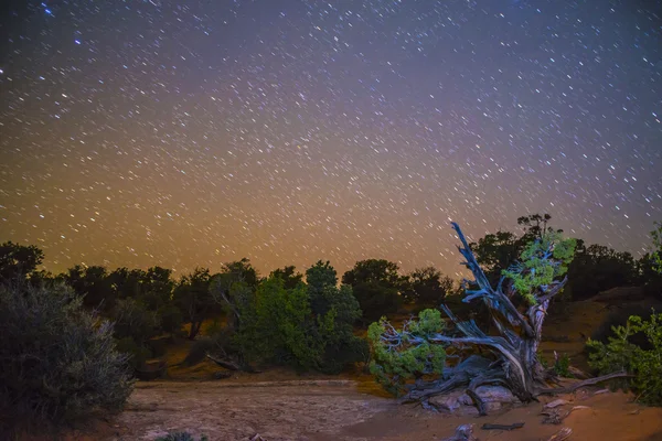
[[[631,338],[643,334],[648,348]],[[600,374],[626,370],[633,377],[620,381],[637,394],[641,402],[662,406],[662,314],[653,313],[649,320],[632,315],[624,326],[615,326],[613,336],[605,344],[589,340],[589,365]]]

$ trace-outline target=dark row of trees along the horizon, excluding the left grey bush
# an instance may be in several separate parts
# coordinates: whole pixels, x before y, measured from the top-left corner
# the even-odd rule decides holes
[[[520,217],[517,224],[523,229],[520,235],[496,232],[470,244],[492,283],[499,282],[527,243],[556,230],[549,215]],[[404,312],[407,304],[410,312],[437,308],[460,290],[459,283],[434,267],[403,273],[397,263],[384,259],[357,261],[340,280],[328,261],[318,261],[303,273],[287,266],[261,276],[248,259],[242,259],[224,263],[216,273],[196,268],[174,278],[161,267],[110,271],[75,266],[51,275],[38,269],[43,259],[38,247],[1,245],[0,281],[71,287],[84,306],[115,322],[117,346],[131,354],[135,367],[162,355],[156,337],[194,340],[205,321],[215,321],[213,341],[205,341],[200,353],[214,349],[244,365],[269,362],[339,370],[343,363],[329,367],[332,355],[346,363],[365,355],[352,326]],[[586,246],[583,240],[568,279],[565,300],[584,300],[623,286],[644,286],[651,295],[659,295],[662,287],[651,255],[634,259],[629,252]],[[343,352],[348,354],[341,357]]]

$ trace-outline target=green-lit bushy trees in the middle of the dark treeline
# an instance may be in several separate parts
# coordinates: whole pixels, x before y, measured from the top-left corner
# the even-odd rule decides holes
[[[274,271],[255,289],[236,273],[216,276],[211,292],[228,312],[226,332],[232,337],[223,348],[212,349],[234,353],[247,362],[328,373],[365,359],[366,345],[353,335],[352,323],[361,316],[361,311],[351,288],[329,284],[333,282],[333,277],[329,277],[332,267],[323,263],[309,271],[312,280],[320,276],[316,286],[298,281],[290,283],[293,287],[289,289],[288,278],[298,279],[293,267]],[[210,343],[204,345],[209,347]],[[191,354],[192,359],[199,357]]]

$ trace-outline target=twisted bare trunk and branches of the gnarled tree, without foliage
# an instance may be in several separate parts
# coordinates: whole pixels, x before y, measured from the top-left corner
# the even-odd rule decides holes
[[[478,265],[460,227],[456,223],[451,225],[461,241],[458,249],[466,259],[462,263],[467,266],[474,278],[469,283],[477,287],[473,290],[467,289],[462,301],[482,300],[488,306],[496,335],[488,335],[479,329],[474,321],[461,322],[446,305],[441,305],[441,310],[448,315],[459,332],[459,336],[441,333],[425,337],[412,335],[407,331],[408,323],[405,323],[402,331],[396,331],[393,326],[386,327],[382,341],[388,346],[396,347],[402,344],[403,340],[413,345],[417,344],[417,340],[420,343],[425,340],[427,343],[442,344],[459,351],[479,346],[484,349],[483,354],[488,355],[487,357],[472,355],[455,367],[445,368],[441,377],[436,381],[417,381],[415,385],[408,386],[408,392],[402,398],[402,401],[421,401],[428,406],[427,400],[433,396],[466,388],[467,395],[476,402],[480,413],[484,415],[485,406],[476,392],[476,389],[482,385],[504,386],[522,402],[536,400],[540,395],[554,394],[555,389],[549,387],[552,380],[555,379],[554,375],[549,369],[543,367],[536,353],[549,302],[562,291],[567,278],[536,287],[534,292],[528,295],[528,301],[523,301],[524,305],[516,306],[515,297],[517,294],[513,283],[506,282],[506,278],[502,277],[498,286],[492,287]],[[546,260],[546,263],[551,266],[560,265],[560,262],[554,261],[553,251],[554,244],[551,244],[549,249],[543,249],[538,258]],[[531,269],[522,269],[522,271],[524,273]],[[618,375],[624,376],[624,374]],[[580,381],[575,384],[573,389],[613,377],[615,375],[610,375]],[[558,390],[559,392],[567,391],[562,388]]]

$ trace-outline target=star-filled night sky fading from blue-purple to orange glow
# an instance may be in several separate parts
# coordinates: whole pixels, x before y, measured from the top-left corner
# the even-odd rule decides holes
[[[662,220],[653,1],[3,6],[0,241],[45,267],[459,270],[549,213],[638,256]]]

